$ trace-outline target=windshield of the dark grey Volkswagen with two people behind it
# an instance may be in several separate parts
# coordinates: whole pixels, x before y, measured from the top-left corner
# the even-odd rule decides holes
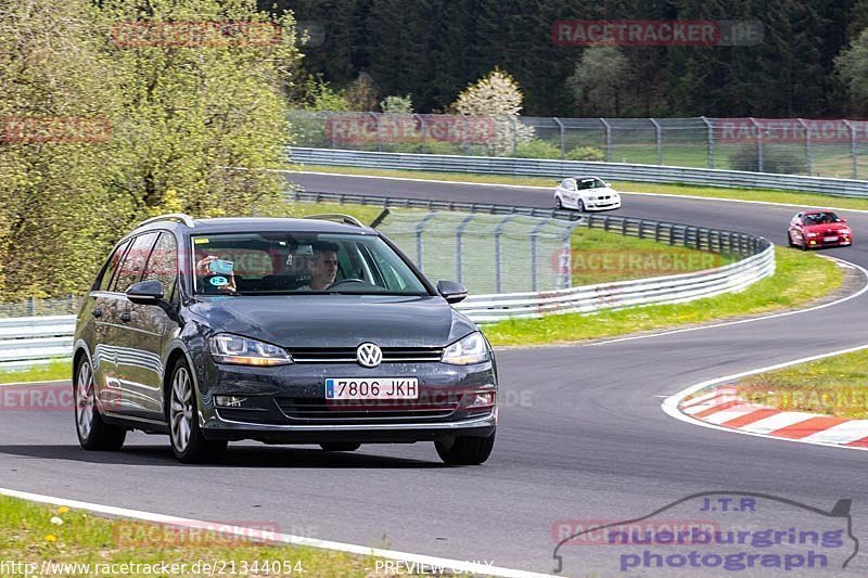
[[[224,233],[193,236],[200,295],[427,295],[379,236]]]

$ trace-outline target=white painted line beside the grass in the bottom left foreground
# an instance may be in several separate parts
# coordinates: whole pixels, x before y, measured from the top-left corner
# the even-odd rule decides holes
[[[90,502],[81,502],[77,500],[64,500],[62,498],[54,498],[52,496],[43,496],[39,493],[30,493],[26,491],[18,491],[8,488],[0,488],[0,496],[8,496],[10,498],[20,498],[29,500],[31,502],[47,503],[53,505],[65,505],[76,510],[86,510],[98,514],[105,514],[108,516],[126,517],[133,519],[141,519],[144,522],[153,522],[157,524],[168,524],[175,526],[181,525],[207,525],[209,523],[191,518],[181,518],[176,516],[167,516],[164,514],[154,514],[151,512],[143,512],[140,510],[127,510],[125,508],[116,508],[112,505],[94,504]],[[224,531],[224,528],[220,528]],[[250,537],[250,529],[244,528],[228,528],[226,534],[232,534],[240,537]],[[317,548],[321,550],[334,550],[337,552],[346,552],[349,554],[358,554],[363,556],[384,557],[392,560],[401,560],[406,562],[416,562],[419,564],[426,564],[429,566],[443,566],[460,570],[464,573],[480,574],[483,576],[506,576],[515,578],[537,578],[548,577],[548,574],[536,574],[525,570],[515,570],[511,568],[500,568],[497,566],[487,566],[485,564],[475,564],[470,562],[462,562],[458,560],[449,560],[435,556],[426,556],[423,554],[411,554],[407,552],[397,552],[394,550],[383,550],[379,548],[368,548],[365,545],[348,544],[343,542],[332,542],[327,540],[319,540],[317,538],[305,538],[303,536],[292,536],[288,534],[275,534],[269,537],[275,541],[290,544],[303,545],[308,548]]]

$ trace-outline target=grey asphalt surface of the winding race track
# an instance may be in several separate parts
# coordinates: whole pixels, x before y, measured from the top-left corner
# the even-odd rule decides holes
[[[290,178],[309,191],[536,207],[552,201],[534,189]],[[616,214],[741,230],[777,244],[795,210],[642,195],[626,195],[624,204]],[[842,213],[856,245],[825,254],[868,267],[868,242],[860,242],[868,214]],[[662,397],[694,383],[866,344],[866,327],[868,294],[690,333],[501,350],[506,403],[495,451],[480,467],[445,467],[431,444],[334,454],[253,442],[231,445],[219,465],[180,466],[163,437],[137,433],[122,452],[85,452],[72,415],[4,412],[0,486],[199,519],[269,521],[286,534],[541,573],[554,568],[559,521],[631,519],[714,490],[765,492],[821,510],[852,499],[853,531],[868,544],[868,452],[706,429],[660,407]],[[768,511],[752,521],[787,527],[787,515]],[[846,575],[868,573],[865,550]],[[612,547],[561,553],[566,575],[624,575]]]

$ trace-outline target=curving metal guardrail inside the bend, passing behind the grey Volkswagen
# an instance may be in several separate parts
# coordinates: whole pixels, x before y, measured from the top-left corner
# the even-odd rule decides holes
[[[432,205],[425,201],[394,197],[334,193],[295,193],[293,196],[297,201],[308,202],[449,208],[441,207],[438,205],[441,202],[431,202]],[[516,207],[498,205],[478,205],[472,208],[498,214],[523,213],[521,209],[516,210]],[[564,211],[554,213],[558,217],[565,217],[559,215]],[[548,216],[554,216],[552,210],[548,211]],[[457,304],[456,309],[476,323],[493,323],[503,319],[535,318],[547,313],[677,304],[741,291],[775,273],[775,246],[763,237],[745,233],[612,215],[587,215],[579,226],[628,236],[654,239],[669,245],[735,254],[742,259],[716,269],[677,275],[549,292],[471,295]],[[74,332],[75,316],[0,319],[0,368],[9,370],[43,363],[58,357],[68,357],[72,352]]]

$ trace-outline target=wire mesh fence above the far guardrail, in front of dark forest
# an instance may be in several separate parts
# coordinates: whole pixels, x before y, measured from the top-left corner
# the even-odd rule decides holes
[[[296,146],[604,160],[857,179],[868,121],[558,118],[293,111]]]

